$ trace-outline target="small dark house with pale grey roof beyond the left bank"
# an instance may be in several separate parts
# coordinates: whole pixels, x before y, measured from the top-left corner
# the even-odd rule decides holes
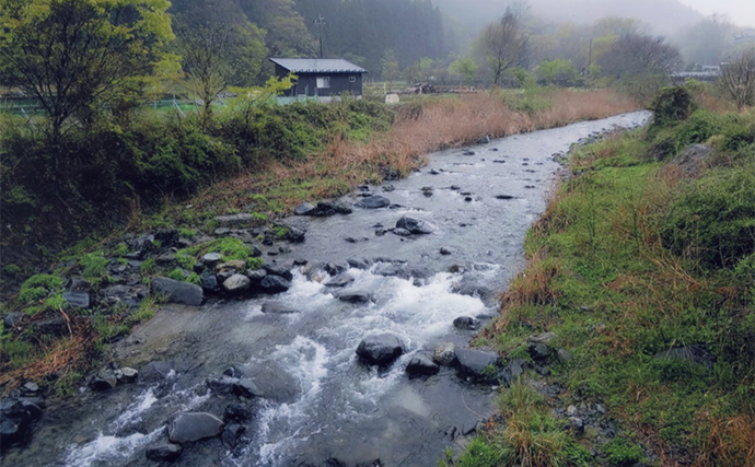
[[[341,58],[270,58],[276,65],[276,77],[289,73],[298,77],[293,87],[279,101],[330,102],[344,93],[362,96],[362,75],[367,70]]]

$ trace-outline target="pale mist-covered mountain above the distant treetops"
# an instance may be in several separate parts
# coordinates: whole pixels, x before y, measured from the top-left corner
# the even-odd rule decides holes
[[[478,31],[508,5],[528,5],[527,13],[554,22],[590,24],[605,16],[634,17],[657,34],[670,35],[704,15],[677,0],[434,0],[450,19]]]

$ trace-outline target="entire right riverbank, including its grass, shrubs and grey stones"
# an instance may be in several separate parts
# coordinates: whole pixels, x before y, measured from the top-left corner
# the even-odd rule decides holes
[[[448,465],[755,465],[754,143],[700,109],[570,153],[478,341],[528,370]]]

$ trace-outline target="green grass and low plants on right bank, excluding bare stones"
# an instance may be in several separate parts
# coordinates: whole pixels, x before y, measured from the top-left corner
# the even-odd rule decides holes
[[[698,121],[705,118],[713,121]],[[578,149],[570,164],[581,175],[561,186],[527,234],[528,266],[512,282],[490,341],[514,358],[528,335],[558,334],[574,357],[554,369],[568,389],[562,404],[570,394],[602,401],[626,433],[596,446],[601,465],[642,460],[641,439],[701,466],[755,462],[746,451],[755,442],[755,145],[722,142],[745,139],[732,126],[748,131],[746,118],[698,113]],[[716,128],[704,132],[718,144],[713,167],[678,182],[653,151],[658,138],[696,141],[693,127]],[[654,358],[688,345],[716,363]],[[547,420],[522,417],[559,442]]]

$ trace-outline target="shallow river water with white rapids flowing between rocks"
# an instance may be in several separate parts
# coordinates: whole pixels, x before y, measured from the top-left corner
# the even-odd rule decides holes
[[[372,466],[380,459],[382,466],[435,466],[446,446],[492,413],[497,388],[467,383],[445,367],[429,378],[409,378],[406,363],[443,342],[466,346],[474,334],[455,329],[454,318],[495,315],[495,294],[521,269],[524,234],[554,186],[559,165],[553,154],[596,131],[648,118],[632,113],[518,135],[469,148],[474,155],[438,152],[421,172],[392,183],[392,191],[370,188],[390,198],[390,209],[289,220],[307,230],[306,242],[268,261],[370,259],[370,269],[349,270],[355,282],[348,289],[371,292],[373,302],[340,302],[323,285],[327,277],[318,282],[300,269],[291,290],[274,299],[220,301],[200,310],[169,306],[135,331],[142,345],[123,350],[127,361],[144,349],[175,360],[167,382],[118,386],[48,409],[32,445],[9,453],[3,465],[155,465],[144,450],[165,436],[173,415],[222,416],[232,396],[214,394],[205,381],[239,364],[255,369],[274,388],[255,401],[246,442],[231,450],[219,439],[205,441],[185,448],[174,465]],[[404,214],[429,221],[435,232],[375,235]],[[441,247],[452,254],[441,255]],[[396,268],[408,272],[386,276]],[[485,289],[490,293],[483,296],[460,293]],[[270,300],[298,313],[262,313]],[[358,363],[360,340],[385,331],[399,336],[408,351],[380,371]]]

